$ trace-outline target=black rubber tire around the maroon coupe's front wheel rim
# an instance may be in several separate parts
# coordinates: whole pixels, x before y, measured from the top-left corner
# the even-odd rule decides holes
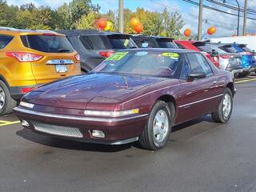
[[[166,126],[166,135],[164,139],[161,142],[157,142],[154,138],[154,124],[156,123],[155,117],[158,113],[161,111],[164,111],[164,115],[167,115],[168,119],[168,126]],[[148,119],[148,122],[146,124],[145,129],[143,130],[143,133],[139,137],[139,142],[141,146],[146,150],[159,150],[162,149],[162,147],[166,146],[166,142],[168,141],[171,127],[173,125],[173,119],[175,114],[175,108],[173,103],[169,103],[169,105],[166,102],[158,101],[154,104],[152,107],[152,110],[150,112],[150,118]],[[163,124],[163,126],[165,126]],[[161,126],[161,129],[162,128]]]

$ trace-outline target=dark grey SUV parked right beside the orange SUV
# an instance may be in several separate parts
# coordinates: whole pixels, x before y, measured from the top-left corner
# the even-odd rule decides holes
[[[57,32],[65,34],[80,54],[81,69],[84,73],[89,73],[117,50],[137,48],[129,34],[98,30],[58,30]]]

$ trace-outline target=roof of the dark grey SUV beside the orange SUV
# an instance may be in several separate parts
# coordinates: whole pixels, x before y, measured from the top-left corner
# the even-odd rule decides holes
[[[116,33],[111,31],[102,31],[102,30],[56,30],[57,33],[60,34],[66,34],[68,36],[77,36],[80,34],[86,34],[86,35],[113,35],[113,34],[120,34],[120,35],[127,35],[131,36],[130,34],[122,34],[122,33]]]

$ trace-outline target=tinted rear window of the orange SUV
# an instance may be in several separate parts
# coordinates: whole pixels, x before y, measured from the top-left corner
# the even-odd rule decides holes
[[[46,53],[71,53],[73,46],[65,36],[58,35],[22,35],[23,45]]]

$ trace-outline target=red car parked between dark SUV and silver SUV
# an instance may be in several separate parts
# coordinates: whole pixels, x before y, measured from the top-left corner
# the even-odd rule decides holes
[[[174,42],[181,49],[202,51],[203,54],[205,54],[206,57],[209,58],[210,61],[214,63],[214,66],[217,66],[218,68],[220,68],[218,54],[216,54],[215,52],[212,52],[211,50],[208,52],[206,50],[200,50],[198,48],[198,46],[205,46],[206,42],[197,42],[193,40],[175,40]]]

